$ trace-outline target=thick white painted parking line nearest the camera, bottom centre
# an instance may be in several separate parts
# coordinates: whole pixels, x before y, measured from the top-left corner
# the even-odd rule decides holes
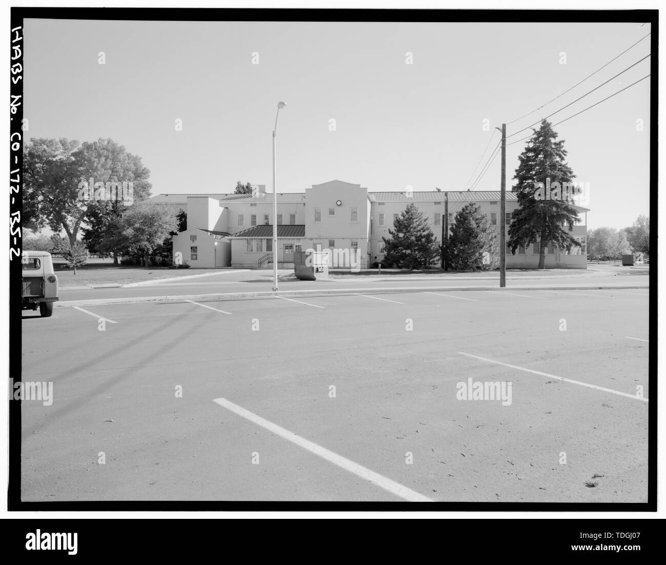
[[[400,496],[400,498],[403,498],[404,500],[408,500],[410,502],[434,502],[431,498],[428,498],[419,492],[407,488],[406,486],[383,475],[380,475],[379,473],[371,471],[370,469],[355,463],[354,461],[343,457],[342,455],[338,455],[337,453],[334,453],[314,442],[311,442],[310,440],[306,440],[298,434],[294,434],[294,432],[290,432],[289,430],[286,430],[277,424],[274,424],[273,422],[269,422],[261,416],[254,414],[254,412],[250,412],[249,410],[242,408],[242,406],[238,406],[238,404],[234,404],[233,402],[226,400],[226,398],[214,398],[213,402],[216,402],[216,404],[219,404],[223,408],[234,412],[234,414],[237,414],[246,420],[250,420],[250,422],[253,424],[261,426],[269,432],[272,432],[281,438],[308,450],[310,453],[314,453],[322,459],[325,459],[326,461],[337,465],[338,467],[352,474],[355,474],[364,480],[372,482],[372,484],[376,484],[377,486],[380,486],[384,490],[388,490],[388,492],[395,494],[396,496]]]

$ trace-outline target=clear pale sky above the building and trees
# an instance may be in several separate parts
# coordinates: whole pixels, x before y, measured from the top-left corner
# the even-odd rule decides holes
[[[26,133],[111,137],[151,169],[154,195],[232,192],[238,180],[270,191],[271,131],[285,101],[278,192],[332,179],[370,191],[464,190],[494,127],[551,100],[649,31],[638,23],[28,20]],[[507,126],[508,135],[629,67],[649,53],[649,41]],[[650,65],[648,58],[549,120],[611,95]],[[627,227],[649,214],[650,80],[555,127],[577,181],[589,183],[591,228]],[[507,147],[507,189],[524,143]],[[499,188],[498,157],[475,190]]]

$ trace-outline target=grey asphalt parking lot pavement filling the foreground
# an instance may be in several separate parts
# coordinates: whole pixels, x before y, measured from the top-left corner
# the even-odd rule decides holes
[[[23,500],[642,502],[647,294],[25,312],[53,404],[22,404]],[[511,401],[458,398],[477,382]]]

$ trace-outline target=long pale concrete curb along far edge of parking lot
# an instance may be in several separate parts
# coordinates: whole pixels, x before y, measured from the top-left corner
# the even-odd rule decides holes
[[[330,288],[322,290],[283,290],[272,292],[213,292],[210,294],[180,294],[175,296],[128,296],[127,298],[92,298],[90,300],[65,300],[55,303],[55,306],[95,306],[102,304],[131,304],[134,302],[183,302],[184,300],[244,300],[248,298],[272,298],[276,296],[328,296],[345,294],[358,294],[359,292],[372,292],[372,294],[398,294],[402,292],[461,292],[465,290],[494,290],[496,292],[509,292],[511,290],[649,290],[649,286],[636,284],[609,285],[567,285],[567,286],[509,286],[503,290],[499,286],[397,286],[393,288]]]

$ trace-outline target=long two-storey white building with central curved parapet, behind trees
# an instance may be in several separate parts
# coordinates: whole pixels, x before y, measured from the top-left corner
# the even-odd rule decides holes
[[[442,241],[445,210],[448,227],[467,203],[480,205],[488,223],[499,229],[500,192],[378,192],[361,185],[329,181],[312,185],[304,193],[278,193],[278,249],[272,249],[273,195],[259,185],[252,195],[236,194],[162,194],[149,200],[182,209],[187,214],[187,229],[173,237],[174,261],[180,259],[194,269],[215,267],[272,268],[277,257],[280,269],[294,266],[294,252],[308,249],[336,249],[332,267],[366,269],[382,263],[384,243],[394,219],[414,203],[428,218],[436,239]],[[507,191],[507,229],[517,197]],[[572,234],[581,248],[571,253],[549,247],[546,267],[585,269],[587,267],[587,212],[576,207],[581,222]],[[539,244],[520,247],[515,255],[507,252],[507,269],[535,269]],[[351,265],[350,265],[351,263]],[[438,265],[434,265],[438,267]]]

